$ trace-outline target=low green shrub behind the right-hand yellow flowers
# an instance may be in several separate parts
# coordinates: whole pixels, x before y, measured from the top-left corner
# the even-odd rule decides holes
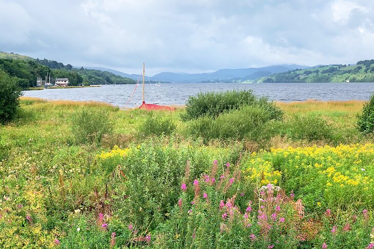
[[[321,116],[293,115],[284,122],[280,133],[293,140],[331,141],[334,137],[334,128]]]

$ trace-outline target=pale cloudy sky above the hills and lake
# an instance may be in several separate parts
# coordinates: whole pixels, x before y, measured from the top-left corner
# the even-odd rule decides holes
[[[374,58],[371,0],[0,0],[0,51],[124,73]]]

